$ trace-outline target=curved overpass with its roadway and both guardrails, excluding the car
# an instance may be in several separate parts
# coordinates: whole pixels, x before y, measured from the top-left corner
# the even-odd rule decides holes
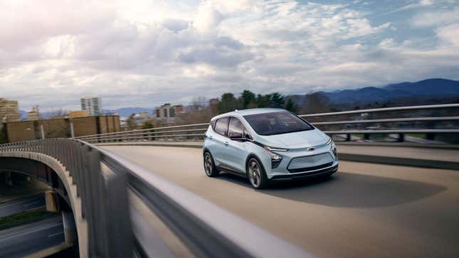
[[[395,134],[399,142],[405,134],[458,133],[458,117],[417,119],[447,121],[448,126],[327,133],[344,140],[355,134],[364,139]],[[368,123],[383,123],[380,120]],[[337,122],[342,121],[325,123],[334,127]],[[6,144],[0,146],[0,166],[31,171],[41,163],[50,178],[57,175],[57,186],[61,182],[72,204],[81,257],[453,257],[459,252],[458,155],[453,145],[391,145],[383,151],[385,144],[371,143],[372,154],[368,149],[352,151],[362,146],[340,145],[349,149],[348,158],[344,156],[349,161],[342,161],[339,173],[329,180],[253,190],[230,175],[205,176],[196,140],[206,127],[192,124]],[[419,155],[413,157],[413,151]],[[355,158],[363,155],[364,160]],[[23,166],[13,161],[17,158],[35,165],[15,168]]]

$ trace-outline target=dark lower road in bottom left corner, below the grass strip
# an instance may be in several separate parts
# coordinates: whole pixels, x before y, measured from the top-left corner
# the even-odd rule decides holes
[[[62,217],[0,231],[0,257],[24,257],[65,241]]]

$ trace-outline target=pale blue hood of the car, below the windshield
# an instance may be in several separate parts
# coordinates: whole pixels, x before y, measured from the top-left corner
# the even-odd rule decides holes
[[[288,134],[260,136],[258,141],[260,144],[266,146],[297,149],[325,144],[328,139],[329,136],[327,136],[327,134],[324,134],[319,129],[314,129],[309,131],[296,131]]]

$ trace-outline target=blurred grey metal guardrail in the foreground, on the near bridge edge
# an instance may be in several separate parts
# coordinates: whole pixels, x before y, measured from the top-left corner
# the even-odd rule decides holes
[[[85,141],[26,141],[1,144],[1,151],[45,154],[65,166],[88,221],[90,257],[174,257],[162,244],[162,235],[150,227],[149,217],[130,219],[128,192],[142,200],[196,257],[310,257],[152,171]]]

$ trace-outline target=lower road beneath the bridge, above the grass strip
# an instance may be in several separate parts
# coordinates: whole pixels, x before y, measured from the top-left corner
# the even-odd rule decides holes
[[[41,208],[46,206],[45,195],[28,196],[11,202],[0,204],[0,217],[9,216],[15,213],[21,213],[26,210]]]

